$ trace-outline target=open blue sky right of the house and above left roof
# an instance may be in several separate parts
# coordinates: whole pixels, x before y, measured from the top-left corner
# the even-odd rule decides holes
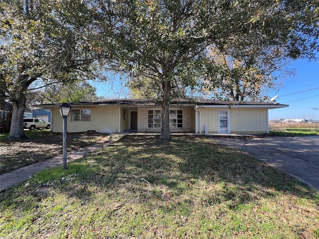
[[[288,108],[269,110],[269,119],[316,119],[319,120],[319,62],[299,59],[289,66],[295,75],[283,80],[283,87],[270,91],[270,98],[278,96],[276,103],[289,105]],[[115,80],[116,81],[116,80]],[[127,91],[115,83],[90,82],[97,88],[97,94],[106,98],[126,98]],[[110,90],[112,88],[112,90]]]

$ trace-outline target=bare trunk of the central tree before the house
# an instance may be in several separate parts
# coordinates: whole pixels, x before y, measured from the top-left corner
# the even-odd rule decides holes
[[[161,131],[160,140],[163,143],[170,141],[170,128],[169,128],[169,97],[170,97],[170,82],[164,82],[163,87],[163,99],[161,105]]]

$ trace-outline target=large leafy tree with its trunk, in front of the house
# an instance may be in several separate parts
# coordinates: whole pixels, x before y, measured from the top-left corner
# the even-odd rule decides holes
[[[294,59],[314,57],[314,50],[319,48],[318,1],[91,2],[98,18],[107,19],[100,23],[101,28],[110,33],[112,46],[117,49],[115,58],[119,67],[131,72],[132,85],[145,89],[144,82],[151,83],[161,98],[163,141],[170,138],[168,112],[173,89],[192,89],[199,76],[217,75],[220,69],[207,59],[208,46],[222,54],[233,49],[233,53],[240,53],[234,56],[240,61],[250,57],[250,50],[255,51],[251,46],[265,47],[265,51],[282,49],[285,57]],[[110,42],[101,47],[108,50]],[[256,66],[252,63],[247,67]],[[210,86],[219,87],[220,81],[213,78]]]

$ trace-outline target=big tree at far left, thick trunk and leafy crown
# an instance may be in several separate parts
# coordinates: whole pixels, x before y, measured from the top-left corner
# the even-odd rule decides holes
[[[72,14],[65,9],[72,9]],[[24,137],[21,125],[28,91],[83,80],[94,72],[91,64],[99,52],[86,44],[94,38],[94,32],[87,31],[89,15],[79,1],[0,2],[0,80],[12,103],[10,139]]]

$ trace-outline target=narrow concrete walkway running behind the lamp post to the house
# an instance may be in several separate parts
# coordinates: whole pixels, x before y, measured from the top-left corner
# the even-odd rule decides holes
[[[102,140],[96,142],[96,144],[94,145],[84,147],[79,151],[68,152],[67,162],[72,162],[76,159],[82,158],[84,155],[93,152],[99,148],[105,147],[110,143],[119,140],[125,135],[126,134],[124,133],[110,134]],[[63,155],[61,154],[44,162],[35,163],[29,166],[16,169],[12,172],[2,174],[0,175],[0,191],[11,188],[23,182],[24,180],[28,179],[31,175],[37,173],[40,170],[62,166],[62,162]]]

